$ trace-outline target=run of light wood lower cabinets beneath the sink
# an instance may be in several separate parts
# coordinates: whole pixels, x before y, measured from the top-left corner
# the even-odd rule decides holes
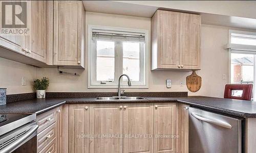
[[[61,152],[187,153],[187,107],[174,102],[66,104],[63,113],[69,113],[62,118],[69,120],[61,123],[60,135],[69,137],[63,136]]]

